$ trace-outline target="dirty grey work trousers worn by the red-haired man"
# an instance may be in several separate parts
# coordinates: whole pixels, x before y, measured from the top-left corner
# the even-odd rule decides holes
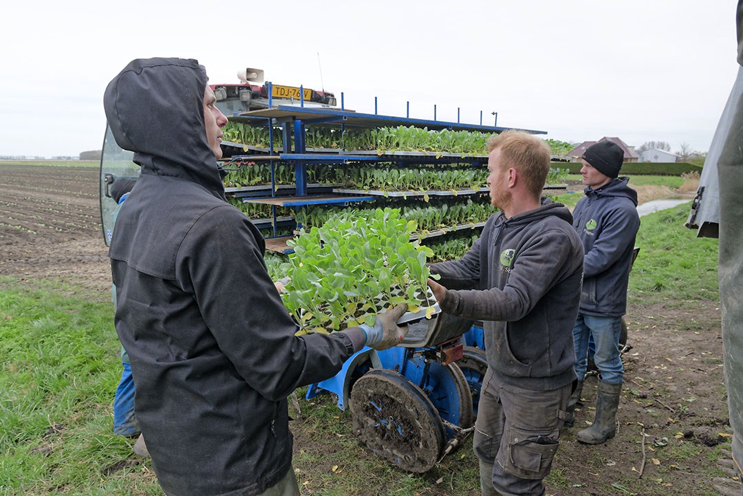
[[[518,388],[485,373],[473,448],[480,466],[493,466],[493,488],[503,496],[542,496],[559,448],[559,431],[572,384],[550,391]],[[481,474],[486,477],[487,474]]]

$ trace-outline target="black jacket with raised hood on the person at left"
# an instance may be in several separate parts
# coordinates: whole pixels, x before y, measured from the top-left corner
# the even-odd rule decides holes
[[[291,466],[288,394],[354,352],[294,336],[258,229],[224,198],[204,131],[204,68],[130,63],[106,88],[117,143],[142,175],[109,250],[134,408],[168,495],[254,495]]]

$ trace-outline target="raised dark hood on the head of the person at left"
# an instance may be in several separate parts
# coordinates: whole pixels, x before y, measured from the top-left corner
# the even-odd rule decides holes
[[[207,72],[194,59],[136,59],[108,83],[106,119],[142,174],[179,177],[217,196],[224,185],[204,123]]]

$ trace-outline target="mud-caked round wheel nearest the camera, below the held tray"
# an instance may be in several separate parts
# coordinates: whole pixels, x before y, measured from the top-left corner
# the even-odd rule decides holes
[[[444,425],[421,388],[399,373],[373,370],[351,390],[353,432],[362,443],[406,471],[434,466],[444,446]]]

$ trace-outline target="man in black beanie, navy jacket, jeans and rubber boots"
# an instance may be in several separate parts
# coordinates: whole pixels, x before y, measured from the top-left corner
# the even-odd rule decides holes
[[[624,151],[609,140],[588,147],[580,169],[585,197],[573,211],[573,227],[583,241],[585,258],[580,311],[573,329],[578,382],[568,402],[566,424],[574,422],[588,366],[588,339],[593,336],[594,363],[599,370],[596,417],[590,427],[577,434],[577,440],[587,444],[604,443],[614,437],[622,392],[619,336],[627,307],[632,250],[640,227],[637,192],[627,186],[629,177],[617,177],[623,161]]]

